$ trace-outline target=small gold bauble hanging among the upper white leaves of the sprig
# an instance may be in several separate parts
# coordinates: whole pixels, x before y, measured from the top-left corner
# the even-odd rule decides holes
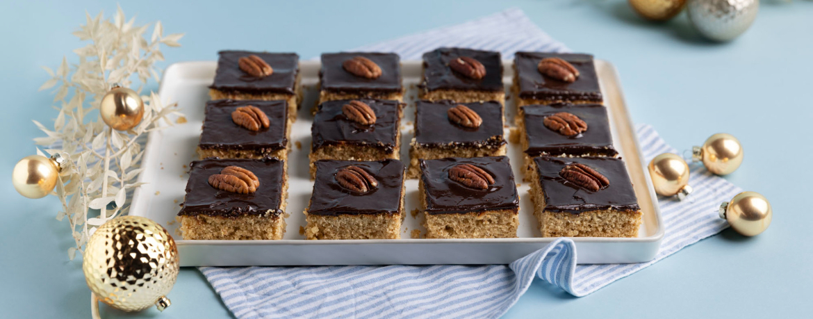
[[[133,129],[144,117],[144,101],[136,91],[114,86],[102,97],[99,114],[102,115],[102,120],[115,130]]]

